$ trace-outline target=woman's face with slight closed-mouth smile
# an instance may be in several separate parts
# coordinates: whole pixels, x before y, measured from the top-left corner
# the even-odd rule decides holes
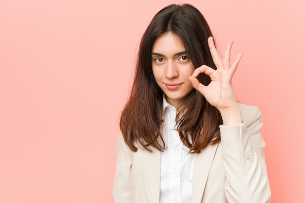
[[[167,32],[156,39],[152,46],[152,72],[167,101],[176,109],[193,89],[189,80],[193,71],[188,50],[179,37]]]

